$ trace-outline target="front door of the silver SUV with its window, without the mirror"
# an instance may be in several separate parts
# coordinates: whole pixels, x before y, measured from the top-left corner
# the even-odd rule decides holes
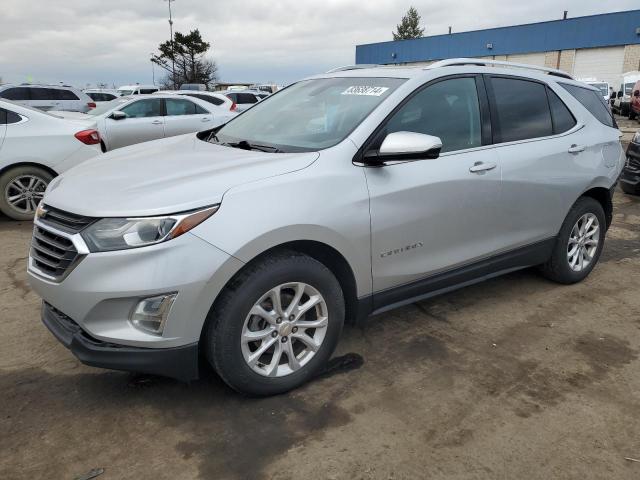
[[[477,83],[478,82],[478,83]],[[482,141],[482,80],[455,77],[429,84],[380,130],[372,148],[393,132],[437,136],[442,153],[366,168],[371,198],[374,292],[411,284],[498,250],[501,169]],[[375,298],[375,294],[374,294]]]

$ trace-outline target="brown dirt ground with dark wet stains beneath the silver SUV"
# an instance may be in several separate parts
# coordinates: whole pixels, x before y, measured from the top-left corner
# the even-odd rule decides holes
[[[40,322],[30,233],[0,219],[0,479],[640,477],[640,197],[616,194],[585,282],[523,271],[380,315],[267,399],[81,365]]]

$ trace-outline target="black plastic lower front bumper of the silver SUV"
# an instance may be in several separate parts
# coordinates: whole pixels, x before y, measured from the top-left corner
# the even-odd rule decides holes
[[[85,365],[183,381],[198,378],[197,343],[154,349],[104,342],[91,337],[71,318],[46,302],[42,302],[42,322]]]

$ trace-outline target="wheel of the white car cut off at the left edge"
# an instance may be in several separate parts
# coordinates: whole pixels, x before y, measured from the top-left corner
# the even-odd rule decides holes
[[[0,175],[0,211],[13,220],[32,220],[53,177],[31,165],[7,170]]]

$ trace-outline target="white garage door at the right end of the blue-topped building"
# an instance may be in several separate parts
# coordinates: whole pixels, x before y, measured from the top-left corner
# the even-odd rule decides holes
[[[624,47],[576,50],[573,76],[575,78],[595,78],[613,85],[620,81],[623,62]]]

